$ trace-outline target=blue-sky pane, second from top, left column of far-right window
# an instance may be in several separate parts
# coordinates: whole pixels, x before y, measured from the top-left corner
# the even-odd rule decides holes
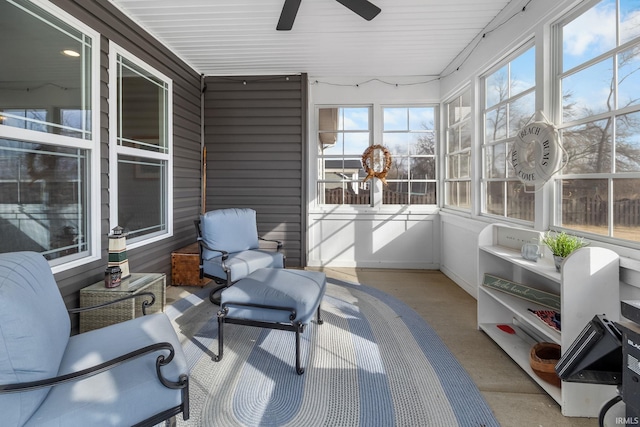
[[[611,59],[562,79],[562,119],[578,120],[612,110]]]

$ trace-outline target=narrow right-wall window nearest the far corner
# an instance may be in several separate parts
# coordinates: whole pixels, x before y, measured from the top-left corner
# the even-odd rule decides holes
[[[445,104],[445,205],[471,209],[471,91]]]

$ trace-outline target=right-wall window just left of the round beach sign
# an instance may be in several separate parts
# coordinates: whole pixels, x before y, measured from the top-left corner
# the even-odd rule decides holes
[[[483,76],[482,212],[534,220],[534,190],[508,163],[520,128],[535,113],[535,47],[526,47]]]

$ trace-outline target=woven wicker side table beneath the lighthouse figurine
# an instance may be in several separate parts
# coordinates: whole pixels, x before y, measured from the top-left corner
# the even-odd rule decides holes
[[[163,273],[132,273],[116,288],[107,288],[104,286],[104,281],[100,281],[80,290],[80,307],[104,304],[129,295],[152,292],[156,300],[153,305],[147,307],[146,312],[147,314],[162,312],[166,304],[165,285],[166,277]],[[80,313],[80,333],[142,316],[142,302],[145,298],[148,301],[151,300],[151,297],[141,295],[140,298],[131,298],[97,310]]]

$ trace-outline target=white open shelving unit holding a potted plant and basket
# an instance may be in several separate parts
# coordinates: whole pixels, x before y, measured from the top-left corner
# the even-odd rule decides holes
[[[560,344],[564,354],[596,314],[604,314],[610,321],[619,320],[619,258],[609,249],[588,246],[568,256],[562,273],[558,273],[548,250],[537,262],[521,256],[522,244],[532,243],[540,234],[499,224],[481,231],[478,328],[561,406],[563,415],[597,417],[601,406],[616,395],[615,386],[563,381],[561,387],[556,387],[533,372],[529,353],[536,342],[547,341]],[[551,329],[528,310],[550,308],[483,286],[485,274],[560,295],[562,332]],[[498,328],[505,324],[516,333]]]

